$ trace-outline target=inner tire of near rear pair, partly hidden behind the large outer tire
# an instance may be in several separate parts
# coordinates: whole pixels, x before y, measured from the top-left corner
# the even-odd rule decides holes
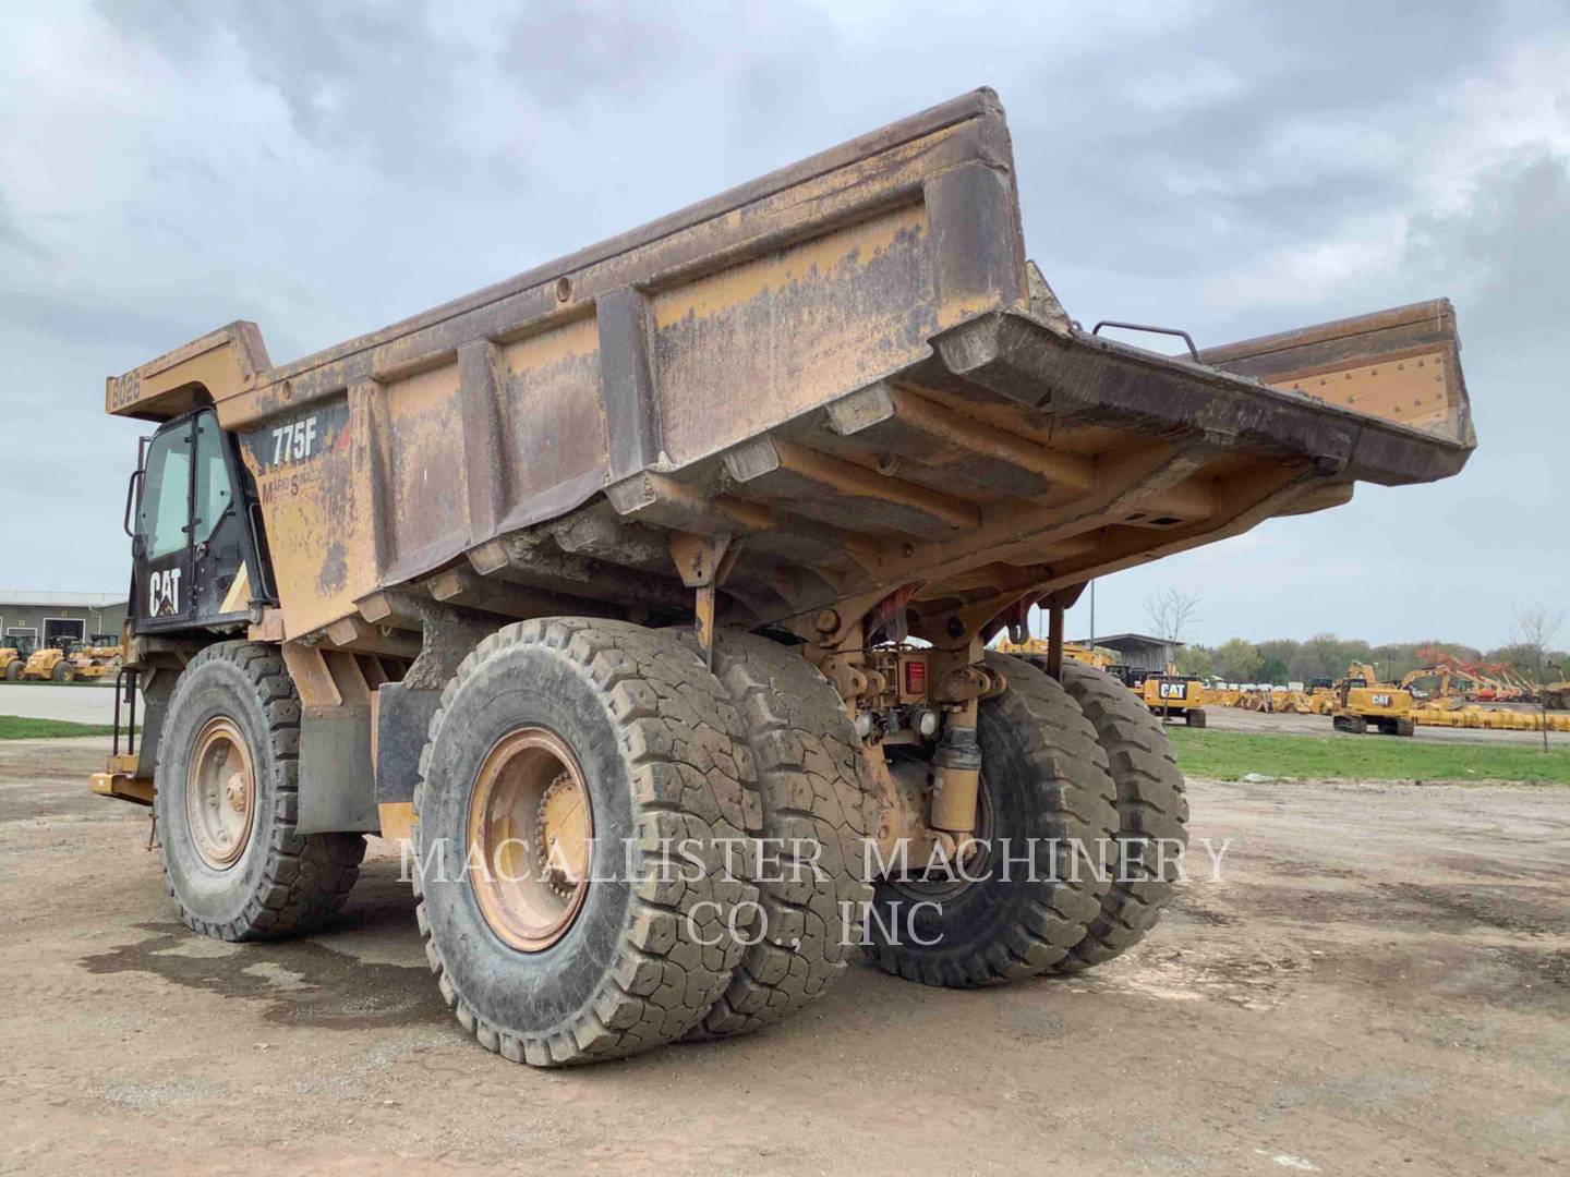
[[[741,717],[763,802],[758,904],[765,926],[689,1037],[783,1022],[835,982],[871,898],[865,840],[874,799],[845,703],[799,651],[719,634],[714,673]],[[849,918],[846,918],[846,915]]]

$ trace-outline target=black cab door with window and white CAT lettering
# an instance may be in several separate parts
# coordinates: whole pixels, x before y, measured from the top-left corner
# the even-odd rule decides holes
[[[190,625],[195,424],[195,416],[171,421],[148,446],[130,541],[137,632]]]

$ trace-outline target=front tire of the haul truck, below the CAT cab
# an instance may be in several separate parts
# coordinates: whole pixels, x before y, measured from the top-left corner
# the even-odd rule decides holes
[[[203,731],[228,722],[254,778],[243,849],[223,868],[203,857],[187,791]],[[181,672],[159,738],[154,816],[163,884],[181,920],[220,940],[270,940],[319,927],[360,877],[358,833],[295,833],[300,698],[276,648],[220,642]]]

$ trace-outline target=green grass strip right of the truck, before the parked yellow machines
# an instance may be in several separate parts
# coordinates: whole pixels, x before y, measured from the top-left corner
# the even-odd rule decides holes
[[[1253,736],[1168,728],[1184,772],[1217,780],[1520,780],[1570,785],[1570,747],[1543,752],[1521,744],[1430,744],[1400,736]],[[1562,738],[1559,738],[1562,741]]]

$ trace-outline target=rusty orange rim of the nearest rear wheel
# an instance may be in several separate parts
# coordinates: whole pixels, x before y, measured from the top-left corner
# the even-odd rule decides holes
[[[560,940],[589,893],[593,805],[567,742],[548,728],[502,736],[469,796],[469,884],[496,937],[520,953]]]

